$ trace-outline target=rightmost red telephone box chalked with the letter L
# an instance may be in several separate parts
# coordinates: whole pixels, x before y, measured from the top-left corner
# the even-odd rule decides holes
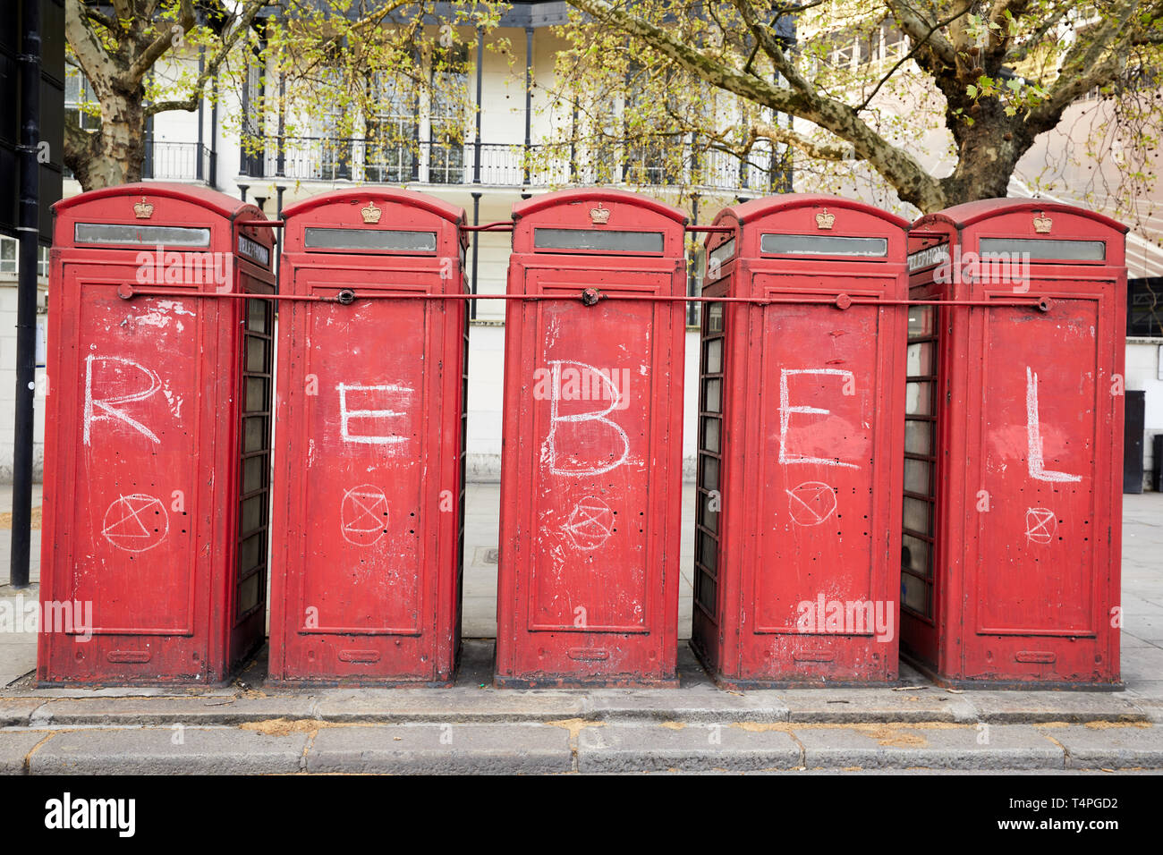
[[[901,643],[939,679],[1119,683],[1126,227],[1032,199],[909,235]]]

